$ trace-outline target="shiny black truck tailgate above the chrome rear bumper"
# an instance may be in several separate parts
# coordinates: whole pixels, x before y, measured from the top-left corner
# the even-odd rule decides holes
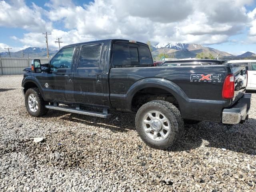
[[[229,64],[235,77],[235,92],[232,104],[239,100],[245,93],[247,84],[247,72],[245,64]]]

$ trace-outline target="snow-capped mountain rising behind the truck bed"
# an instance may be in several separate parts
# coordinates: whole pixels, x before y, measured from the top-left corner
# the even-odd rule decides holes
[[[214,48],[205,47],[200,44],[187,44],[187,43],[162,43],[153,47],[152,56],[156,57],[160,53],[168,54],[174,58],[190,58],[196,57],[198,53],[212,54],[213,56],[233,56],[224,51],[220,51]],[[179,52],[183,50],[182,52]]]

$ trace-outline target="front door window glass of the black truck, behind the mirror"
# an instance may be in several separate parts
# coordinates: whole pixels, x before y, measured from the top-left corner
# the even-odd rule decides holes
[[[50,70],[57,71],[58,69],[70,69],[74,54],[74,47],[68,47],[60,50],[50,62]]]

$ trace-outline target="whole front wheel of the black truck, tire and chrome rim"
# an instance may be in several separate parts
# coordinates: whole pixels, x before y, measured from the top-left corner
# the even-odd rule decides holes
[[[40,117],[48,112],[45,108],[46,102],[43,100],[38,88],[30,88],[25,94],[25,106],[28,113],[34,117]]]

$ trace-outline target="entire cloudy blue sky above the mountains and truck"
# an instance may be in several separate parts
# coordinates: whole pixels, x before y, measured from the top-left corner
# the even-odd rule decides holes
[[[165,6],[162,6],[162,5]],[[256,52],[256,0],[0,0],[0,51],[105,38]]]

